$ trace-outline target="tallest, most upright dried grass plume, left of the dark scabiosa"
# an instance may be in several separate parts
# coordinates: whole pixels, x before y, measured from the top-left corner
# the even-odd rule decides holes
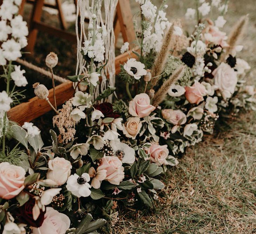
[[[173,33],[174,33],[174,23],[168,30],[167,34],[165,35],[163,39],[162,48],[156,56],[155,63],[153,65],[153,68],[151,69],[152,77],[159,76],[163,71],[163,67],[166,64],[166,61],[169,55],[171,38],[173,36]],[[159,80],[159,77],[154,78],[154,80],[151,83],[152,87],[154,87],[157,84],[158,80]]]

